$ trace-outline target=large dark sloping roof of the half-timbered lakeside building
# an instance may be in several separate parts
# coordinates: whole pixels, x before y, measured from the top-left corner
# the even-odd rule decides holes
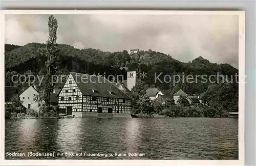
[[[70,72],[83,95],[132,99],[105,77]],[[92,90],[96,90],[94,93]],[[111,94],[111,93],[114,94]]]

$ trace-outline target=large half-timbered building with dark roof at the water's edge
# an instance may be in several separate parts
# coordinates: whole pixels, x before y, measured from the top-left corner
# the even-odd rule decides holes
[[[75,117],[131,117],[131,97],[105,77],[71,72],[58,97],[60,112]]]

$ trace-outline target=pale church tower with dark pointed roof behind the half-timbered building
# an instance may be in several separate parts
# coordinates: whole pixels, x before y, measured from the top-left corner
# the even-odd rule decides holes
[[[136,63],[131,64],[129,66],[129,68],[127,69],[127,89],[129,89],[130,91],[136,85],[137,69],[138,69],[138,64],[136,64]]]

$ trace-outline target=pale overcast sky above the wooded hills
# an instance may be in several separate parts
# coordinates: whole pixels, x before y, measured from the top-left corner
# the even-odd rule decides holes
[[[49,15],[6,15],[5,43],[45,43]],[[238,68],[238,16],[54,15],[57,43],[122,51],[152,49],[188,62],[199,56]]]

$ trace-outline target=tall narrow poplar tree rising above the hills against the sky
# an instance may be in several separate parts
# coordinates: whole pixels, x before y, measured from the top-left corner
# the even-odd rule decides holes
[[[48,37],[48,41],[46,42],[47,74],[44,78],[45,81],[44,81],[43,89],[44,89],[45,104],[49,108],[51,93],[54,86],[52,75],[56,74],[56,71],[59,67],[58,46],[56,43],[58,22],[56,18],[53,17],[53,15],[50,15],[49,17],[48,27],[49,27],[49,37]]]

